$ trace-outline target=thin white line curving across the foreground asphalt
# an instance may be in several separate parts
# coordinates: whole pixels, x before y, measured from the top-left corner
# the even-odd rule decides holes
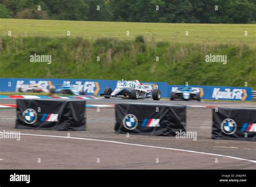
[[[3,133],[3,132],[0,132],[0,133]],[[9,133],[4,132],[3,134],[9,134]],[[227,157],[227,158],[230,158],[230,159],[237,159],[237,160],[243,160],[243,161],[249,161],[249,162],[256,163],[255,160],[242,159],[242,158],[234,157],[234,156],[226,156],[226,155],[219,155],[219,154],[213,154],[213,153],[196,152],[196,151],[193,151],[193,150],[176,149],[176,148],[169,148],[169,147],[147,146],[147,145],[140,145],[140,144],[136,144],[136,143],[125,143],[125,142],[111,141],[111,140],[98,140],[98,139],[89,139],[89,138],[77,138],[77,137],[43,135],[43,134],[23,134],[23,133],[21,133],[21,135],[45,136],[45,137],[52,137],[52,138],[68,138],[68,139],[77,139],[77,140],[102,141],[102,142],[110,142],[110,143],[119,143],[119,144],[130,145],[130,146],[141,146],[141,147],[151,147],[151,148],[158,148],[158,149],[179,150],[179,151],[182,151],[182,152],[198,153],[198,154],[213,155],[213,156],[223,156],[223,157]]]

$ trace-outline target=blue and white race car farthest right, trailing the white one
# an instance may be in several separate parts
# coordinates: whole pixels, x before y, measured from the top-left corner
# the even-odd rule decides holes
[[[170,100],[175,99],[201,101],[200,92],[190,87],[179,87],[176,91],[171,91]]]

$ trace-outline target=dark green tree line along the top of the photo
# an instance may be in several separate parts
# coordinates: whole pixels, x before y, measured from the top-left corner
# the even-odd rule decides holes
[[[256,0],[0,0],[0,18],[256,23]]]

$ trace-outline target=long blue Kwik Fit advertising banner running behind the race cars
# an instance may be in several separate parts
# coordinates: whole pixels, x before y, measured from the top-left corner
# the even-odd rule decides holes
[[[123,81],[123,80],[120,80]],[[72,89],[84,91],[85,95],[100,95],[104,89],[116,88],[120,81],[114,80],[89,80],[89,79],[69,79],[69,78],[0,78],[0,91],[15,92],[19,88],[29,87],[29,84],[36,83],[45,89],[59,88],[63,84],[71,84]],[[143,82],[142,80],[139,80]],[[158,83],[162,98],[170,98],[171,91],[184,85],[167,85],[166,82],[147,82]],[[250,87],[218,87],[190,85],[190,87],[200,92],[202,99],[213,100],[252,100],[252,88]],[[153,88],[150,88],[153,89]]]

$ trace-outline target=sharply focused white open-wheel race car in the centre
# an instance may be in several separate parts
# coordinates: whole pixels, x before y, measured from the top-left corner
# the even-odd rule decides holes
[[[100,96],[104,96],[105,98],[153,98],[153,100],[159,100],[161,98],[161,91],[158,89],[158,84],[140,83],[138,80],[134,80],[117,83],[117,87],[113,91],[111,88],[106,88]]]

